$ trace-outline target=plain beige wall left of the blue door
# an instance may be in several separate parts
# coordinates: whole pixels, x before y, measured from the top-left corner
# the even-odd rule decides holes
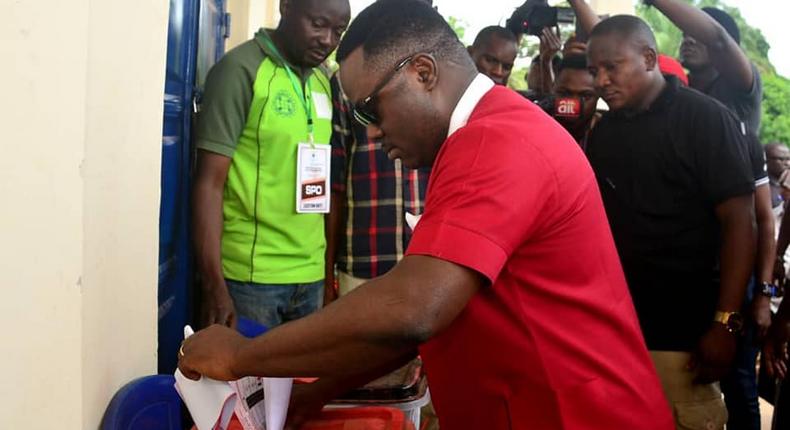
[[[156,370],[168,4],[5,6],[0,428],[95,429]]]

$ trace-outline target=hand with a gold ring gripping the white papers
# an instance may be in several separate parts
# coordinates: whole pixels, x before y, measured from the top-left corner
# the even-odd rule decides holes
[[[214,324],[184,340],[178,368],[189,379],[206,376],[218,381],[235,381],[246,376],[233,373],[236,354],[246,342],[249,339],[236,330]]]

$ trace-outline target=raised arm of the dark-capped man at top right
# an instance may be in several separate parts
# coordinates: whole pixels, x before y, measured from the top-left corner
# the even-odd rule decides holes
[[[678,0],[653,0],[653,6],[680,30],[708,48],[710,60],[719,74],[740,91],[754,85],[752,63],[738,43],[707,13]]]

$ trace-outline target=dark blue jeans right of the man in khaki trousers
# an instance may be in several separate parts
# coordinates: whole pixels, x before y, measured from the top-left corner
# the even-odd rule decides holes
[[[743,314],[748,315],[754,299],[754,278],[746,290]],[[760,401],[757,394],[757,328],[747,322],[738,338],[732,370],[721,380],[721,391],[727,404],[727,430],[760,430]]]

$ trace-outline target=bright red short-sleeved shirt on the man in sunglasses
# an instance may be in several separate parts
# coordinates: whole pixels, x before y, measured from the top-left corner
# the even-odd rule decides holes
[[[442,430],[670,430],[593,172],[573,138],[503,87],[434,163],[408,249],[482,288],[421,347]]]

